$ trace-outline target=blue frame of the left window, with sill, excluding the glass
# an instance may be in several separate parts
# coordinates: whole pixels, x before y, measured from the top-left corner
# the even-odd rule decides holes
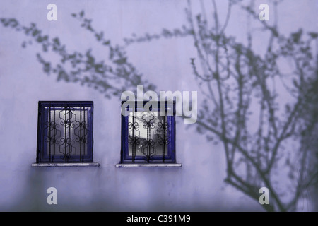
[[[81,109],[81,112],[84,111],[86,112],[86,117],[87,117],[87,122],[85,121],[85,113],[84,113],[84,121],[71,121],[71,123],[75,123],[78,122],[78,126],[81,126],[83,124],[86,123],[87,126],[87,136],[86,136],[86,141],[82,141],[81,139],[77,138],[78,141],[76,142],[86,142],[87,145],[87,150],[86,150],[86,154],[84,153],[83,155],[81,155],[81,151],[78,155],[71,155],[71,158],[66,157],[64,155],[64,160],[61,159],[61,156],[63,155],[57,155],[57,157],[54,159],[54,157],[52,157],[50,155],[50,153],[47,153],[47,141],[45,141],[45,138],[48,138],[47,136],[47,131],[48,131],[48,127],[46,127],[46,123],[47,126],[50,126],[48,123],[52,122],[50,121],[51,119],[49,119],[49,121],[47,121],[47,118],[49,117],[49,111],[52,109],[46,109],[46,107],[53,107],[54,111],[59,111],[61,112],[61,109],[65,109],[67,110],[65,107],[67,107],[68,109],[71,109],[72,107],[90,107],[89,110],[86,109]],[[59,109],[55,109],[55,107],[58,107]],[[78,164],[78,163],[90,163],[93,162],[93,101],[39,101],[38,102],[38,117],[37,117],[37,155],[36,155],[36,164],[48,164],[47,166],[50,165],[71,165],[71,164]],[[58,113],[59,114],[59,113]],[[67,118],[66,118],[67,119]],[[55,121],[55,119],[54,119]],[[81,124],[83,123],[83,124]],[[61,126],[61,125],[60,125]],[[75,125],[74,127],[74,131],[77,128]],[[52,136],[51,136],[52,138]],[[60,141],[62,138],[62,135],[59,137]],[[66,136],[67,138],[67,136]],[[85,136],[84,136],[85,138]],[[76,140],[76,139],[75,139]],[[65,138],[64,138],[65,141]],[[51,141],[49,141],[51,142]],[[62,141],[61,141],[62,142]],[[82,144],[80,144],[81,147]],[[84,146],[85,147],[85,146]],[[85,148],[83,150],[85,152]],[[34,165],[37,166],[37,165]]]

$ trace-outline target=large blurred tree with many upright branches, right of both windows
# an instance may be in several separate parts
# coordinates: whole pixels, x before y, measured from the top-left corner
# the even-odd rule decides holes
[[[229,16],[226,16],[224,25],[220,25],[216,2],[212,2],[215,24],[211,28],[208,27],[205,13],[199,13],[194,18],[190,1],[187,8],[188,23],[194,30],[194,46],[202,73],[199,73],[194,59],[192,68],[201,89],[206,93],[205,105],[197,123],[198,131],[204,128],[222,141],[228,167],[225,182],[256,201],[259,198],[258,189],[266,186],[272,197],[270,205],[263,206],[266,210],[295,210],[304,189],[317,182],[317,167],[312,167],[312,172],[306,167],[310,157],[308,152],[317,151],[317,146],[312,150],[301,150],[304,148],[302,145],[300,150],[293,150],[300,162],[297,165],[286,164],[290,182],[297,184],[292,191],[294,196],[288,203],[278,194],[272,177],[277,169],[283,168],[278,165],[284,157],[286,162],[290,162],[289,157],[284,156],[283,143],[291,139],[300,140],[299,131],[308,129],[303,126],[302,117],[309,104],[306,88],[312,80],[318,79],[317,64],[312,53],[312,42],[317,35],[311,32],[304,40],[302,30],[298,30],[285,37],[278,31],[277,25],[261,22],[264,32],[271,34],[266,53],[261,56],[251,47],[252,35],[248,35],[247,46],[235,42],[235,37],[225,35]],[[228,4],[227,15],[231,7],[238,4],[258,20],[257,13],[250,6],[243,6],[240,1],[228,1]],[[274,6],[277,5],[276,2]],[[283,79],[277,64],[281,58],[295,64],[293,75],[288,78],[293,81],[288,91],[292,90],[295,101],[285,105],[283,117],[278,116],[279,92],[273,86],[276,81]],[[259,111],[255,110],[255,104],[252,105],[256,101]],[[258,124],[249,123],[253,117],[259,118]],[[314,123],[317,124],[317,120]],[[252,132],[252,127],[256,131]],[[214,139],[210,133],[207,137]],[[308,176],[306,179],[304,174]]]

